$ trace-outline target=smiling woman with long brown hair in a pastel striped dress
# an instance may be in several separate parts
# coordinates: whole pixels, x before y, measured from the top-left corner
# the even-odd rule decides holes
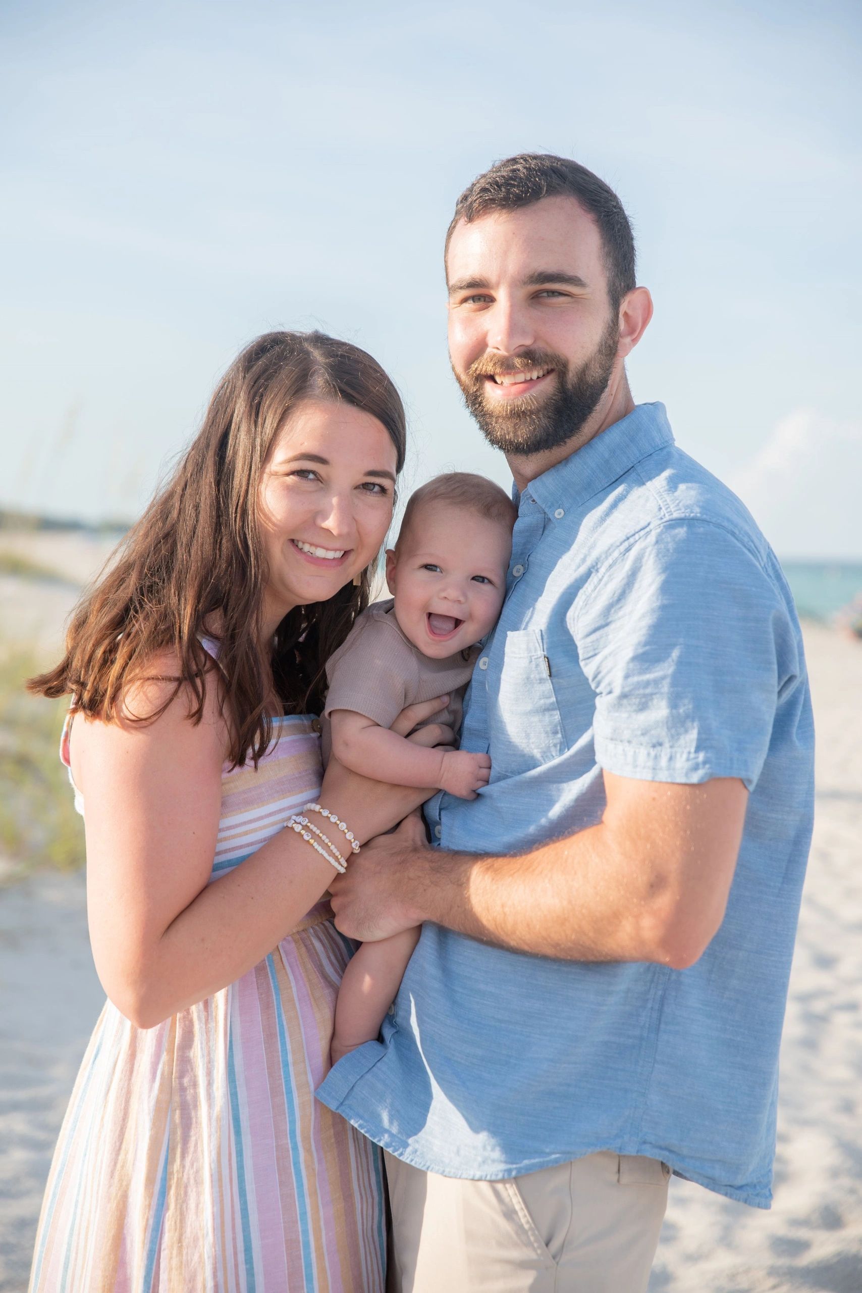
[[[364,840],[424,795],[370,794],[335,763],[321,785],[305,710],[367,604],[403,456],[401,400],[370,356],[260,337],[31,683],[72,696],[63,758],[109,997],[32,1290],[383,1288],[377,1149],[313,1099],[350,954],[326,891],[348,828]],[[314,799],[341,831],[286,826]]]

